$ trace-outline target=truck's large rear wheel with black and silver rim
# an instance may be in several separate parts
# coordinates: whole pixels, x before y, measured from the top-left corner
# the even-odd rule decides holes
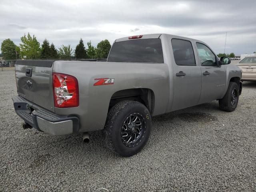
[[[103,133],[107,148],[128,157],[142,150],[150,131],[151,116],[146,106],[140,102],[125,100],[109,110]]]

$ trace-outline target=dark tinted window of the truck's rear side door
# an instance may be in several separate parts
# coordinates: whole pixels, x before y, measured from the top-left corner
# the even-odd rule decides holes
[[[172,39],[172,50],[177,65],[196,65],[194,50],[190,41]]]

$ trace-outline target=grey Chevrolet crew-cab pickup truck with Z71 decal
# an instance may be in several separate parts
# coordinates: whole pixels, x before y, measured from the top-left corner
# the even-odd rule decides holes
[[[121,156],[139,152],[151,117],[218,100],[233,111],[242,72],[202,41],[147,34],[114,41],[107,62],[18,60],[12,98],[23,128],[54,135],[103,130]]]

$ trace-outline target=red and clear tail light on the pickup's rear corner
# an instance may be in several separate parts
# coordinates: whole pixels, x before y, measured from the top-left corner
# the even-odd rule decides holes
[[[53,73],[52,86],[55,107],[68,108],[79,105],[78,82],[75,77]]]

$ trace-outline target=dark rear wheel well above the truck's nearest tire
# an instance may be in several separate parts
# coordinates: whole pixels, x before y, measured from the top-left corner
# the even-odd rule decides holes
[[[112,106],[114,106],[116,103],[123,100],[138,101],[148,108],[150,114],[153,114],[154,112],[155,96],[151,89],[136,88],[117,91],[112,95],[110,99],[109,109],[112,108]]]

